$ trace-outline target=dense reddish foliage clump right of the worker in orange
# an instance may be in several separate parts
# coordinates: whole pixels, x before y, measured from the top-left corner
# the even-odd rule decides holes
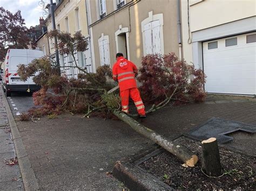
[[[159,103],[172,94],[180,104],[205,100],[203,71],[178,60],[174,53],[144,56],[140,73],[140,91],[147,102]]]

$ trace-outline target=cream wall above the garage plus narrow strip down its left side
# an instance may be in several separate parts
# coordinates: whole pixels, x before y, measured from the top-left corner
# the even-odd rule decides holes
[[[256,15],[255,0],[180,0],[183,58],[193,61],[192,33]],[[188,27],[188,9],[189,23]],[[189,32],[190,31],[190,32]]]

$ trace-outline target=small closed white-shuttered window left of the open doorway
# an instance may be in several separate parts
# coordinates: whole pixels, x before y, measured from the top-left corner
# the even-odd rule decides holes
[[[99,57],[100,66],[110,65],[110,52],[109,52],[109,36],[103,36],[99,38]]]

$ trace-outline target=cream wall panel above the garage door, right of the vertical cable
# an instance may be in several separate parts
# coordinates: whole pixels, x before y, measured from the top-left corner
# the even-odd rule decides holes
[[[191,32],[255,15],[255,0],[201,1],[190,6]]]

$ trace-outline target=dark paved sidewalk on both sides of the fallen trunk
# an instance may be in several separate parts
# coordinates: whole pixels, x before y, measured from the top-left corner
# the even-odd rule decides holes
[[[225,96],[224,96],[225,97]],[[174,138],[211,117],[256,124],[255,99],[214,98],[201,104],[166,107],[138,119],[166,137]],[[33,172],[41,189],[122,189],[108,172],[117,160],[150,149],[153,143],[121,121],[81,115],[17,122]],[[256,135],[239,137],[231,146],[255,152]],[[250,144],[247,144],[250,139]]]

